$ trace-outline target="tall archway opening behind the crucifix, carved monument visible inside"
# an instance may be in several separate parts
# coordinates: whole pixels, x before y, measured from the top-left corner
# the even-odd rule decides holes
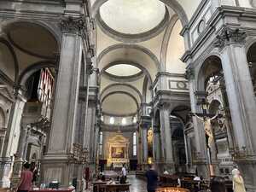
[[[225,91],[224,73],[222,61],[216,55],[211,55],[203,62],[198,76],[198,90],[203,90],[208,105],[208,113],[211,115],[220,114],[218,119],[212,119],[212,147],[207,145],[209,164],[212,167],[212,174],[227,176],[230,174],[233,161],[230,149],[234,147],[234,136],[232,121],[229,111],[229,101]]]

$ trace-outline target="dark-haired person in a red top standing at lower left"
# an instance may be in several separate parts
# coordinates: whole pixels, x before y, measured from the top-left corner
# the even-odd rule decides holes
[[[18,192],[28,192],[32,189],[33,173],[30,171],[29,163],[23,165],[23,171],[20,176],[20,183],[18,184]]]

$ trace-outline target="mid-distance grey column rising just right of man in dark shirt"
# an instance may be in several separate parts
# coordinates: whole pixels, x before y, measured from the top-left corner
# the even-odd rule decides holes
[[[165,160],[165,169],[169,173],[174,173],[174,162],[172,152],[172,132],[170,125],[170,104],[167,102],[160,104],[160,137],[162,157]]]

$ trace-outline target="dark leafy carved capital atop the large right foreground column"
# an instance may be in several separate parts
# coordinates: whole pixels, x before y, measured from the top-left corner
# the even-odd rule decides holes
[[[216,37],[214,46],[219,49],[223,49],[229,44],[244,44],[245,38],[247,38],[247,33],[241,31],[238,28],[230,28],[225,26],[221,32]]]

